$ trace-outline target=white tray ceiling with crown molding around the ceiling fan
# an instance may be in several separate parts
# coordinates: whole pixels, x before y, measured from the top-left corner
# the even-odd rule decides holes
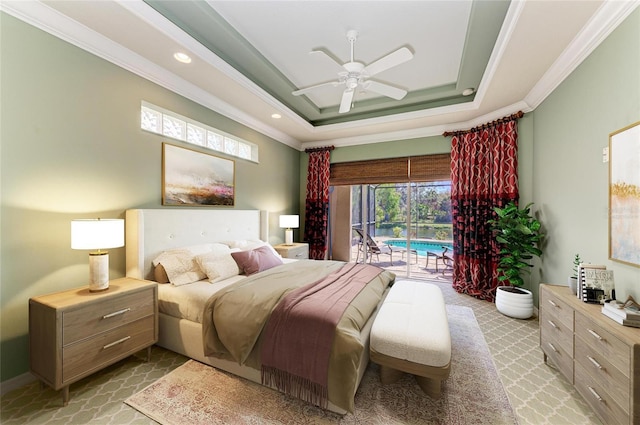
[[[475,1],[189,1],[182,5],[194,5],[204,13],[180,26],[140,0],[3,0],[0,8],[282,143],[304,149],[432,136],[518,110],[529,112],[640,3]],[[488,6],[506,9],[500,25],[486,17],[474,19],[474,11]],[[194,38],[183,29],[193,34],[212,28],[210,12],[226,21],[215,26],[216,40],[224,39],[223,46],[233,46],[235,53],[250,52],[239,59],[247,61],[244,68],[232,66],[237,65],[235,53],[214,53],[206,34],[194,34]],[[359,32],[354,56],[365,64],[403,46],[414,53],[411,61],[375,78],[407,89],[409,101],[394,105],[387,98],[358,93],[352,111],[342,114],[349,117],[319,124],[314,116],[337,115],[342,90],[320,89],[297,99],[290,91],[337,78],[335,64],[308,52],[323,48],[339,61],[348,61],[349,29]],[[496,35],[493,39],[479,36],[485,31]],[[491,46],[483,58],[476,46],[485,39],[491,40]],[[176,51],[188,53],[191,64],[176,62]],[[439,92],[467,88],[461,82],[473,79],[473,73],[465,70],[474,63],[482,65],[476,73],[475,95],[437,99]],[[249,75],[252,69],[259,70],[257,76]],[[258,81],[262,77],[272,85]],[[373,112],[366,113],[368,109]],[[281,119],[271,118],[276,112]]]

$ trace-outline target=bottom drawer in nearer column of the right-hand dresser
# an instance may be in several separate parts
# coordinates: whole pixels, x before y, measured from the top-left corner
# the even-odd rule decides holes
[[[601,382],[589,375],[580,363],[576,363],[575,387],[593,410],[598,413],[603,423],[607,425],[629,424],[629,414],[607,393]]]

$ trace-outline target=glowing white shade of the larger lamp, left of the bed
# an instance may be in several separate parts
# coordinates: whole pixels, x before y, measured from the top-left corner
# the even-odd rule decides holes
[[[124,246],[124,220],[71,220],[71,249],[109,249]]]

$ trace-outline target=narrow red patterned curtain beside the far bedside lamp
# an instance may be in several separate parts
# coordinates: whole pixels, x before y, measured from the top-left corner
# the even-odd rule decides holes
[[[310,149],[307,174],[304,240],[309,244],[309,258],[324,260],[327,252],[329,220],[330,148]]]

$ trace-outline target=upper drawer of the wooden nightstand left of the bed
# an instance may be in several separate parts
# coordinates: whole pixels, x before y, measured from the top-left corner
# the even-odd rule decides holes
[[[62,314],[62,344],[81,339],[153,315],[154,289],[126,293],[99,304],[83,305]]]

